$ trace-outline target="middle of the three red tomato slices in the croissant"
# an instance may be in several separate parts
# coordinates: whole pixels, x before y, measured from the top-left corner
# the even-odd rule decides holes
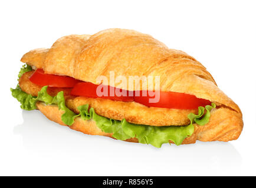
[[[113,96],[110,96],[110,93],[113,94]],[[126,93],[126,96],[120,95],[121,93]],[[129,93],[130,93],[130,96],[129,96]],[[74,86],[74,88],[71,90],[71,95],[84,96],[86,98],[104,98],[104,99],[119,100],[124,102],[133,101],[133,92],[128,92],[127,90],[122,90],[118,88],[113,88],[111,86],[95,85],[90,82],[77,83]]]

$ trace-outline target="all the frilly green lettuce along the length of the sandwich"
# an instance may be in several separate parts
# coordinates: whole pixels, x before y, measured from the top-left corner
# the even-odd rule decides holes
[[[18,77],[21,78],[24,73],[31,71],[31,66],[23,66],[19,72]],[[54,76],[54,75],[53,75]],[[70,80],[70,84],[73,84],[74,80]],[[76,83],[74,83],[76,84]],[[44,84],[42,84],[44,85]],[[144,125],[143,123],[133,123],[129,119],[113,119],[107,116],[101,116],[90,104],[84,103],[80,106],[76,106],[76,109],[68,108],[66,103],[68,99],[65,98],[65,91],[67,89],[61,90],[58,88],[58,92],[55,95],[50,95],[48,93],[48,85],[40,87],[41,89],[38,93],[25,92],[18,85],[16,89],[11,89],[12,96],[21,102],[21,108],[25,110],[37,109],[37,102],[44,102],[46,105],[58,105],[58,108],[64,113],[61,116],[61,120],[66,125],[72,125],[76,117],[81,117],[83,120],[94,120],[96,125],[106,133],[113,133],[113,137],[119,140],[126,140],[136,137],[140,143],[151,144],[155,147],[162,146],[163,143],[168,143],[172,140],[176,145],[180,145],[186,137],[189,137],[194,132],[193,123],[198,125],[205,125],[209,122],[209,117],[211,115],[211,109],[215,108],[216,105],[211,103],[211,105],[198,106],[198,114],[188,113],[186,124],[169,125],[169,126],[152,126]],[[50,88],[50,87],[49,87]],[[192,111],[192,110],[190,110]],[[192,111],[195,112],[195,111]],[[145,121],[146,122],[146,121]],[[147,123],[149,124],[149,123]]]

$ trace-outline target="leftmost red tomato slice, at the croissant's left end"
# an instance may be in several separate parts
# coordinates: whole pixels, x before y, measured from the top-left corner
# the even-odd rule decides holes
[[[37,69],[30,76],[29,80],[40,86],[50,86],[56,88],[73,88],[80,80],[71,78],[70,76],[48,75],[44,70]]]

